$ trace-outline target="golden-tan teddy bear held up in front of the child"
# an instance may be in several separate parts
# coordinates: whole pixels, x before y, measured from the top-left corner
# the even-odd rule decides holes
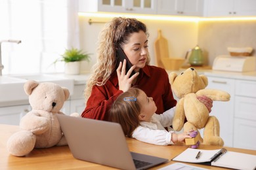
[[[209,116],[209,110],[197,96],[205,95],[213,101],[229,101],[230,94],[223,90],[205,89],[208,85],[207,76],[198,75],[192,67],[180,75],[171,72],[169,80],[173,93],[179,98],[173,117],[173,129],[180,131],[183,127],[184,131],[198,131],[204,128],[203,139],[199,133],[200,143],[223,146],[224,141],[219,135],[219,120]]]

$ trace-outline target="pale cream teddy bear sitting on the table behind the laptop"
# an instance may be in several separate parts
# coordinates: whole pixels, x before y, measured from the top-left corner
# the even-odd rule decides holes
[[[70,96],[68,88],[53,82],[28,80],[24,91],[29,95],[32,110],[20,120],[20,131],[7,141],[7,149],[14,156],[26,156],[33,148],[64,146],[67,143],[56,114],[60,112],[64,101]],[[72,116],[79,117],[78,113]]]

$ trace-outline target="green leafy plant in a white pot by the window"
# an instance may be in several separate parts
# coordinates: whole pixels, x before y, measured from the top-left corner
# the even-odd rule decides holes
[[[65,74],[79,75],[81,61],[85,60],[89,62],[90,59],[90,54],[87,54],[82,50],[78,50],[77,48],[72,47],[70,49],[66,49],[64,54],[62,54],[62,58],[56,59],[54,63],[56,63],[57,61],[64,61]]]

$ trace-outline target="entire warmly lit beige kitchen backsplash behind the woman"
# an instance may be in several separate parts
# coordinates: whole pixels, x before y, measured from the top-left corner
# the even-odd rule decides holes
[[[89,17],[79,17],[81,48],[93,54],[91,63],[84,63],[82,72],[88,72],[96,62],[96,41],[104,23],[89,24]],[[91,18],[97,22],[111,19]],[[226,48],[251,46],[256,50],[256,21],[160,21],[141,20],[148,26],[151,64],[155,65],[154,41],[158,29],[168,40],[170,57],[184,58],[187,50],[197,44],[205,55],[205,65],[212,65],[220,54],[228,54]],[[253,52],[255,56],[255,52]]]

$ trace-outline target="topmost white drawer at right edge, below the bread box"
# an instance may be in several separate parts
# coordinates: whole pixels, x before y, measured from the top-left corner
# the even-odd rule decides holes
[[[236,80],[236,95],[256,97],[256,82]]]

